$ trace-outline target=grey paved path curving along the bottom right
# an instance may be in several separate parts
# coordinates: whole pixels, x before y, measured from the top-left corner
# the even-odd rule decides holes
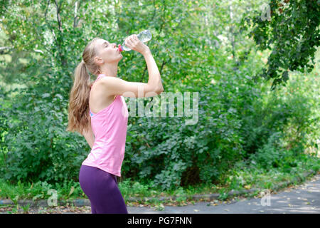
[[[268,198],[269,196],[269,198]],[[226,204],[213,205],[213,202],[198,202],[182,207],[164,206],[157,211],[150,207],[127,207],[129,214],[292,214],[320,213],[320,175],[306,183],[287,188],[265,197],[240,199]]]

